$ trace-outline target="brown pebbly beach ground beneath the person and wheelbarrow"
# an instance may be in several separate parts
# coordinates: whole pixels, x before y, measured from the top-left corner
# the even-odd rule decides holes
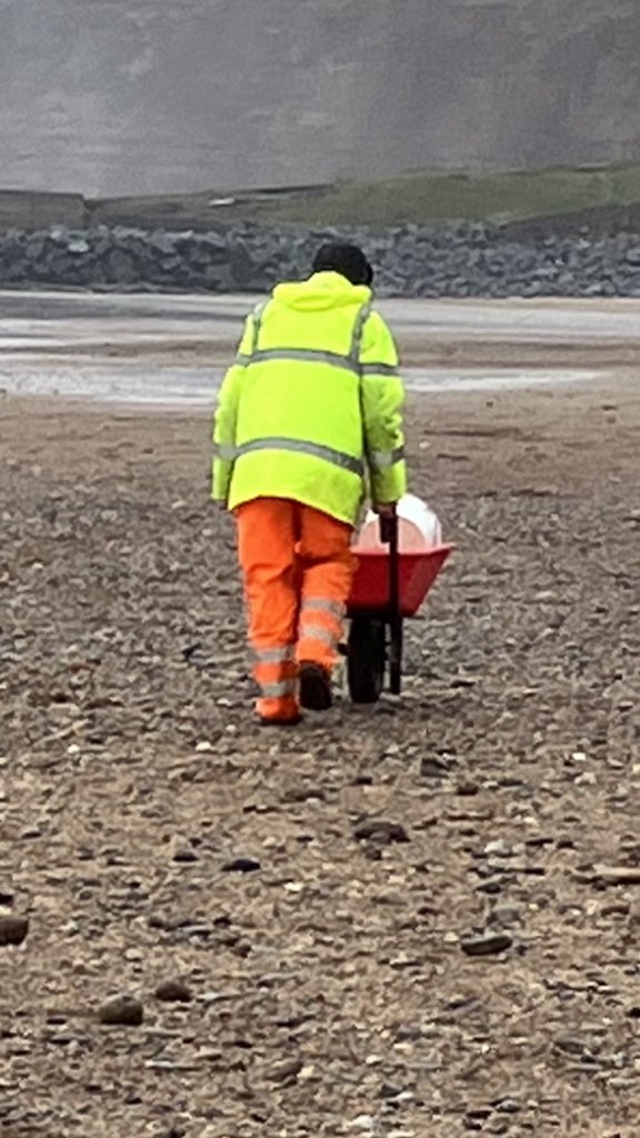
[[[409,419],[404,694],[274,734],[207,418],[2,401],[2,1138],[637,1138],[635,376]]]

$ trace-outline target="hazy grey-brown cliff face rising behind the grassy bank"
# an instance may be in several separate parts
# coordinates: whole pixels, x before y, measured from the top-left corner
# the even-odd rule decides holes
[[[640,157],[638,0],[0,0],[0,187]]]

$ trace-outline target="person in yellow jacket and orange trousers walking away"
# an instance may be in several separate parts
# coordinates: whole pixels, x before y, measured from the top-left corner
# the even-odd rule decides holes
[[[331,706],[369,489],[393,514],[407,489],[403,385],[355,245],[323,245],[307,280],[247,318],[214,418],[214,500],[233,512],[265,725]]]

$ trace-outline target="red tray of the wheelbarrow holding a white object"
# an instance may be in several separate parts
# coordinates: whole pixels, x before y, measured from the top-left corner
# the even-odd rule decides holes
[[[399,602],[401,617],[415,617],[451,553],[452,545],[399,553]],[[348,599],[350,617],[367,613],[384,617],[391,609],[389,554],[387,550],[353,551],[358,559]]]

